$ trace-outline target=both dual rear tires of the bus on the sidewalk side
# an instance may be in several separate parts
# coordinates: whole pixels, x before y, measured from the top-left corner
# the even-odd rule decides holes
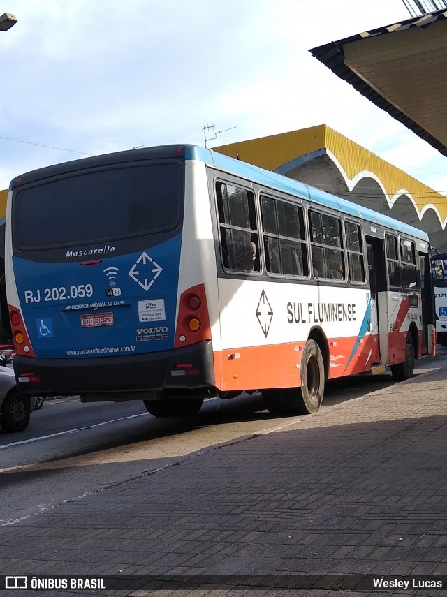
[[[301,359],[301,388],[263,390],[265,407],[272,415],[310,415],[323,401],[324,362],[316,341],[306,343]]]

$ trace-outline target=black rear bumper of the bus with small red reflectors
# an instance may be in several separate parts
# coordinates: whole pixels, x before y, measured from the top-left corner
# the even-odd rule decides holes
[[[98,395],[96,399],[159,397],[170,390],[214,387],[211,340],[144,355],[85,359],[13,357],[17,388],[33,396]],[[119,396],[122,394],[123,396]]]

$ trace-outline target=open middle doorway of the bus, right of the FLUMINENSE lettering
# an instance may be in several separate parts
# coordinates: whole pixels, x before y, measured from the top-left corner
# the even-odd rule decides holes
[[[366,237],[369,288],[371,290],[372,365],[386,362],[388,354],[388,300],[386,293],[386,263],[383,240]],[[383,355],[384,359],[381,358]]]

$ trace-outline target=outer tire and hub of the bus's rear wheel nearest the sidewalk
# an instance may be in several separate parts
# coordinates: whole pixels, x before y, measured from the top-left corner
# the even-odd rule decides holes
[[[316,413],[323,401],[324,363],[315,340],[306,342],[301,358],[301,389],[288,388],[287,401],[295,415]]]

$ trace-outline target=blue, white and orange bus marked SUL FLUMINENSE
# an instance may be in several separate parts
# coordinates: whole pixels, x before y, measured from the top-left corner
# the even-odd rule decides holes
[[[425,233],[192,145],[15,178],[6,286],[21,392],[158,416],[244,390],[313,413],[328,379],[434,354]]]

